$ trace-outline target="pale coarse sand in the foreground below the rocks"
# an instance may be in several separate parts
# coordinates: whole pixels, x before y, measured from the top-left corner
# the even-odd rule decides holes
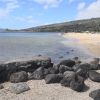
[[[76,92],[60,84],[45,84],[44,80],[30,80],[26,82],[31,88],[21,94],[13,94],[8,91],[12,83],[4,83],[4,89],[0,90],[0,100],[93,100],[89,97],[92,90],[100,89],[100,84],[86,80],[89,89],[85,92]]]

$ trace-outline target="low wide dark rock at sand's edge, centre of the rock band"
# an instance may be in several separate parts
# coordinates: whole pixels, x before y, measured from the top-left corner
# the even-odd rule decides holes
[[[59,83],[63,78],[63,75],[59,75],[59,74],[48,74],[45,77],[45,82],[46,84],[50,84],[50,83]]]

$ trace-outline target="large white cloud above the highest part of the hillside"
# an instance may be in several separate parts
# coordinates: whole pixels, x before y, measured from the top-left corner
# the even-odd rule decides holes
[[[100,17],[100,0],[92,2],[87,7],[79,10],[76,19],[96,18]]]

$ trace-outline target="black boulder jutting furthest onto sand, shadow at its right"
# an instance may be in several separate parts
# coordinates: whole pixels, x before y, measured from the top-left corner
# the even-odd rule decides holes
[[[84,79],[80,76],[76,75],[75,78],[73,78],[73,80],[70,82],[70,88],[77,92],[83,91],[84,87],[85,87]]]

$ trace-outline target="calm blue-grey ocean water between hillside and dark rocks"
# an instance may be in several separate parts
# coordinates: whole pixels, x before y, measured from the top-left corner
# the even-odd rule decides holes
[[[65,39],[59,33],[0,33],[0,62],[48,56],[52,62],[75,56],[88,59],[91,54],[78,46],[75,39]]]

